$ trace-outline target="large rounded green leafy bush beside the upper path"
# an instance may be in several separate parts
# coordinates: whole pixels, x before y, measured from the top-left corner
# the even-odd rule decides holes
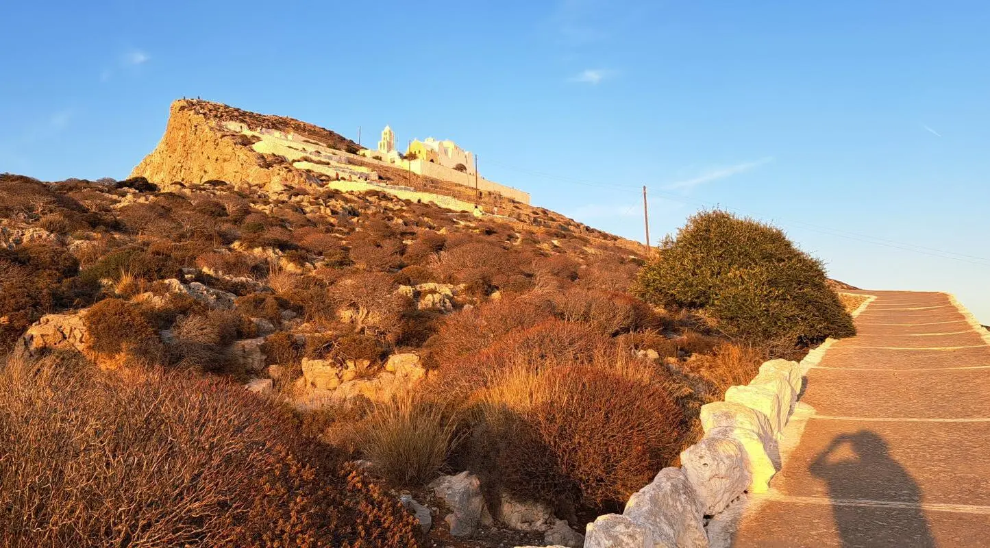
[[[644,300],[701,310],[734,339],[781,348],[855,334],[821,261],[778,228],[723,212],[695,215],[640,272]]]

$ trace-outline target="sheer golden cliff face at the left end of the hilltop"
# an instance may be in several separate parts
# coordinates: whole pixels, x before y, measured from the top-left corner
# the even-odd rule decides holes
[[[159,185],[173,181],[202,183],[213,179],[278,191],[308,182],[288,164],[269,165],[222,122],[199,111],[202,102],[178,100],[171,105],[165,135],[131,172]]]

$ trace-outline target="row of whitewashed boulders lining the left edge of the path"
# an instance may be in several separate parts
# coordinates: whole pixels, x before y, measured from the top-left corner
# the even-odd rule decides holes
[[[858,316],[875,297],[867,296]],[[974,320],[975,321],[975,320]],[[801,362],[770,360],[724,402],[701,408],[705,436],[681,452],[680,468],[664,468],[626,503],[622,514],[589,523],[585,548],[708,548],[706,521],[745,493],[765,493],[780,467],[778,442],[807,371],[836,341],[828,339]]]

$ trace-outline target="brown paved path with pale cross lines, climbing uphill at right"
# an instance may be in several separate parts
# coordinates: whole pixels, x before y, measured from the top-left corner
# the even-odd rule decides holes
[[[990,345],[944,294],[861,293],[733,546],[990,546]]]

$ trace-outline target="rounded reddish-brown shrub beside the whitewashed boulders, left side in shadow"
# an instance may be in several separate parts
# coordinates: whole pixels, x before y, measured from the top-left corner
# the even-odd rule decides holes
[[[621,355],[548,369],[521,362],[489,384],[484,443],[502,486],[524,500],[620,508],[681,446],[682,412],[663,379]]]

